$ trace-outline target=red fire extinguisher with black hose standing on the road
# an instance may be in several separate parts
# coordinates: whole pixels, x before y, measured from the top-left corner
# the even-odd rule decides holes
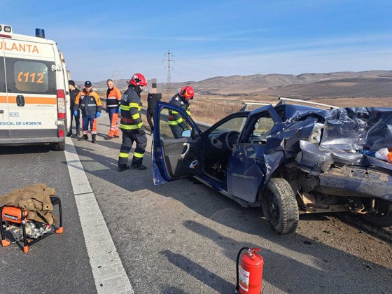
[[[241,265],[239,267],[239,255],[241,255],[243,250],[248,252],[241,256]],[[237,255],[237,285],[235,293],[261,293],[264,260],[257,251],[261,251],[261,249],[242,247],[239,251]]]

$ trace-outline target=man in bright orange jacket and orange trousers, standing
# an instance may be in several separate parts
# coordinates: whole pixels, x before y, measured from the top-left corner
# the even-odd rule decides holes
[[[118,87],[115,87],[113,80],[109,78],[106,80],[108,90],[106,90],[106,112],[109,113],[110,130],[109,134],[105,137],[105,140],[110,140],[120,137],[120,131],[118,130],[118,113],[120,110],[121,92]]]

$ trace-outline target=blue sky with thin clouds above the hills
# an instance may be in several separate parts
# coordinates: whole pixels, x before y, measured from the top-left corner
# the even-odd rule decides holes
[[[60,4],[62,3],[62,4]],[[0,0],[16,34],[45,29],[75,80],[172,81],[392,69],[392,1]]]

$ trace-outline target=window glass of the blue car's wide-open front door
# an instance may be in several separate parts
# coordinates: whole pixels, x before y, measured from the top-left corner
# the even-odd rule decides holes
[[[178,111],[172,109],[161,109],[160,111],[160,139],[180,139],[183,137],[185,130],[191,130],[193,134],[193,128]],[[189,132],[187,132],[189,133]]]

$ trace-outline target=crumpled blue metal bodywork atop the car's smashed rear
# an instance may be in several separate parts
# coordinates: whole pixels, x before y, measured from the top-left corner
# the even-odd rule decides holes
[[[351,107],[332,110],[283,104],[281,131],[267,138],[265,182],[288,158],[321,172],[328,165],[377,166],[392,170],[392,165],[358,153],[392,147],[392,109]],[[322,130],[319,146],[317,142]],[[315,133],[318,132],[318,136]],[[304,142],[302,142],[304,141]],[[300,143],[301,142],[301,143]],[[300,153],[300,154],[299,154]]]

